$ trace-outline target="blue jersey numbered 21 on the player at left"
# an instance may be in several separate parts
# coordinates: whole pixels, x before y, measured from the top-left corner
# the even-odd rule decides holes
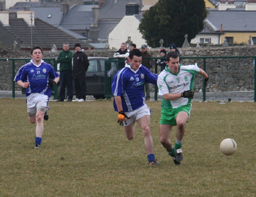
[[[58,76],[49,63],[42,60],[40,65],[35,65],[31,59],[30,62],[19,68],[14,81],[30,82],[26,89],[26,96],[29,96],[31,93],[51,96],[52,90],[48,85],[49,78],[55,79]]]

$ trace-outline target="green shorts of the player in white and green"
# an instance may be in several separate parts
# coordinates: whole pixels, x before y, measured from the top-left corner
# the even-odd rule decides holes
[[[179,112],[187,112],[188,117],[190,116],[191,112],[191,104],[180,106],[179,108],[175,109],[162,109],[161,110],[161,118],[160,118],[160,125],[177,125],[176,123],[176,115]]]

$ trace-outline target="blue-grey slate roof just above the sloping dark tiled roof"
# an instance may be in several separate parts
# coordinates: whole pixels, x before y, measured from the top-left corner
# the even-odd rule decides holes
[[[61,27],[70,30],[89,29],[93,23],[92,7],[95,6],[73,6],[63,17]]]

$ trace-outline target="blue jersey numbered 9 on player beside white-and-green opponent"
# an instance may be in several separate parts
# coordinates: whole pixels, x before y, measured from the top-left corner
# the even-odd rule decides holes
[[[145,82],[156,84],[157,79],[157,74],[152,74],[142,65],[136,71],[129,64],[119,70],[112,80],[112,93],[114,96],[121,96],[123,112],[130,112],[143,106]],[[118,111],[115,100],[114,109]]]

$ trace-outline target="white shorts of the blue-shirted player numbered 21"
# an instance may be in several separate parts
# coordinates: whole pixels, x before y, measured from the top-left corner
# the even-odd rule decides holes
[[[31,93],[27,97],[27,113],[30,117],[36,115],[37,110],[46,112],[48,107],[49,97],[47,95],[41,95],[40,93]]]

